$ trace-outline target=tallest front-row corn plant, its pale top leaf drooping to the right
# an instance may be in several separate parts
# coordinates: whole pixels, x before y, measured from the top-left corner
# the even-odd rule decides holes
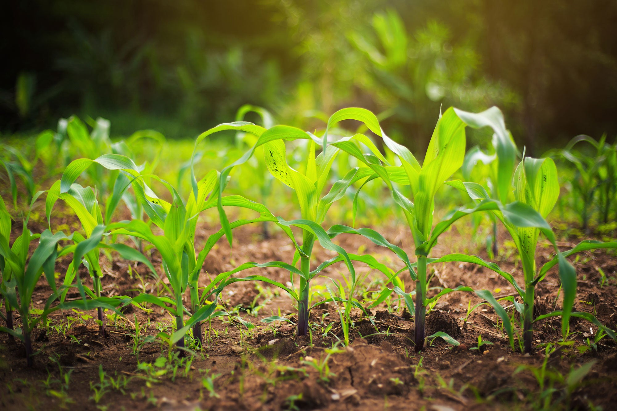
[[[496,215],[505,215],[510,219],[512,230],[519,230],[520,228],[526,230],[539,227],[540,230],[547,233],[547,236],[550,236],[552,243],[555,244],[550,226],[530,205],[518,201],[503,205],[498,200],[490,199],[487,194],[484,195],[486,190],[477,183],[463,183],[460,180],[450,181],[447,184],[468,189],[467,191],[473,193],[472,198],[481,199],[481,201],[471,209],[455,210],[442,218],[441,222],[433,227],[434,197],[437,189],[444,184],[445,179],[449,178],[463,164],[463,157],[465,155],[465,127],[467,125],[478,128],[484,126],[494,128],[497,147],[504,151],[502,156],[504,160],[499,162],[497,170],[497,181],[500,184],[497,192],[503,193],[500,195],[504,198],[507,197],[508,188],[505,185],[510,186],[511,162],[515,160],[516,152],[515,146],[511,143],[510,134],[505,130],[505,122],[503,122],[499,109],[493,108],[479,114],[467,113],[452,108],[446,110],[437,122],[428,150],[424,156],[423,165],[421,166],[406,147],[395,143],[381,131],[374,115],[371,115],[366,110],[363,113],[365,114],[366,122],[371,124],[371,126],[368,126],[370,130],[373,130],[373,132],[383,138],[386,146],[397,155],[401,163],[399,166],[381,165],[375,160],[370,161],[367,159],[366,165],[372,168],[375,174],[371,175],[366,181],[370,181],[373,178],[381,178],[386,183],[392,191],[395,202],[402,207],[412,233],[417,258],[417,262],[414,264],[416,270],[410,270],[412,280],[416,281],[415,308],[413,309],[413,314],[415,315],[416,350],[420,351],[424,346],[426,308],[429,304],[434,303],[436,298],[452,291],[470,291],[478,294],[482,299],[491,303],[495,311],[506,322],[508,318],[507,313],[499,305],[499,302],[495,301],[490,291],[474,291],[469,287],[461,286],[456,289],[444,289],[437,296],[431,298],[428,298],[426,295],[428,287],[427,264],[434,261],[428,258],[429,252],[437,244],[439,236],[459,218],[466,215],[493,210]],[[354,152],[344,142],[334,142],[331,144],[341,147],[341,149],[345,149],[347,152]],[[367,158],[358,154],[354,154],[354,156],[360,160],[363,157]],[[384,161],[383,159],[380,160]],[[392,185],[392,181],[402,185],[409,185],[412,192],[412,200],[402,196],[395,189],[395,186]],[[501,185],[504,186],[502,187]],[[474,193],[475,191],[478,191],[478,193]],[[345,226],[336,226],[329,231],[329,234],[333,236],[342,232],[358,233],[358,231]],[[465,256],[465,258],[474,260],[477,257]],[[446,259],[442,258],[439,260],[443,261]],[[507,275],[507,277],[513,280],[511,275]],[[509,325],[508,322],[506,326]],[[510,329],[508,329],[508,334],[511,334]]]

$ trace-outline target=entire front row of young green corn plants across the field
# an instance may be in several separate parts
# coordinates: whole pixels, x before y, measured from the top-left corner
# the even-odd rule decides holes
[[[263,127],[242,121],[244,114],[249,111],[260,115]],[[344,120],[357,120],[362,123],[362,127],[356,133],[347,133],[338,126]],[[531,352],[533,323],[547,317],[561,317],[563,338],[568,336],[571,317],[585,318],[595,323],[603,333],[615,338],[614,331],[600,324],[590,313],[573,312],[576,272],[567,257],[580,251],[617,248],[617,243],[586,240],[572,249],[561,250],[558,247],[553,230],[545,220],[560,194],[555,162],[550,157],[534,159],[524,156],[524,152],[521,155],[497,107],[480,113],[455,108],[440,113],[428,149],[419,162],[407,147],[389,138],[375,115],[365,109],[339,110],[329,117],[325,128],[310,133],[288,125],[274,125],[265,110],[246,106],[239,112],[238,121],[218,125],[197,137],[193,154],[186,159],[183,168],[190,181],[186,195],[181,194],[179,186],[155,173],[164,146],[164,138],[159,133],[141,131],[126,141],[112,144],[109,140],[109,122],[102,119],[93,122],[91,133],[85,124],[74,117],[61,122],[60,128],[62,130],[59,133],[49,132],[39,136],[36,142],[37,157],[48,156],[48,169],[53,170],[55,165],[52,162],[60,156],[52,154],[50,157],[49,152],[54,147],[60,152],[67,141],[70,146],[77,147],[84,157],[70,162],[64,168],[60,180],[48,189],[36,193],[31,190],[30,206],[25,210],[22,233],[12,243],[12,218],[5,201],[0,201],[0,292],[5,307],[2,317],[6,320],[6,326],[0,327],[0,331],[23,341],[28,365],[32,363],[33,328],[37,325],[45,326],[50,313],[72,308],[96,309],[99,333],[104,335],[104,309],[122,315],[126,305],[154,304],[175,317],[175,331],[171,341],[178,349],[186,350],[185,339],[191,334],[197,344],[203,346],[202,324],[215,317],[228,315],[218,301],[223,289],[238,281],[262,281],[288,293],[297,303],[296,331],[300,336],[309,333],[309,312],[312,307],[324,302],[335,302],[340,307],[344,344],[349,343],[349,315],[352,309],[360,309],[371,318],[370,309],[387,297],[397,295],[413,316],[415,348],[421,351],[426,341],[426,313],[440,297],[452,292],[474,293],[492,305],[503,323],[503,330],[512,349],[521,352]],[[492,146],[487,147],[486,152],[475,147],[466,153],[466,128],[489,128],[493,134]],[[210,136],[226,130],[234,131],[236,141],[248,144],[250,148],[226,167],[197,176],[196,165],[201,161],[199,147],[202,142],[210,142]],[[153,139],[159,151],[151,162],[137,165],[132,149],[138,147],[144,139]],[[383,150],[378,148],[376,141]],[[295,152],[295,163],[290,165],[288,146],[292,144],[302,147],[302,150]],[[598,144],[605,144],[605,141]],[[611,154],[609,150],[606,157],[603,172],[607,172],[608,164],[612,164],[610,161],[614,160],[615,151]],[[480,163],[484,166],[478,167]],[[22,164],[20,167],[23,170],[19,169],[19,164]],[[262,199],[267,198],[271,189],[270,175],[291,189],[296,194],[293,204],[300,218],[285,219],[273,214],[260,202],[237,194],[226,194],[234,168],[242,165],[251,167],[251,181],[260,187]],[[26,185],[34,187],[33,181],[30,181],[31,167],[30,170],[27,168],[23,167],[23,161],[6,167],[12,183],[14,205],[17,205],[15,174],[22,175]],[[463,168],[465,180],[470,181],[450,180],[460,168]],[[578,170],[581,172],[583,168]],[[614,174],[615,168],[611,168],[610,172]],[[94,186],[81,186],[78,180],[89,181]],[[378,231],[354,227],[358,217],[358,199],[363,190],[371,186],[367,183],[373,180],[391,194],[392,204],[404,215],[413,238],[411,256],[390,243]],[[459,190],[462,198],[466,199],[465,204],[459,204],[447,213],[436,210],[440,204],[436,202],[436,197],[442,185]],[[157,194],[155,186],[167,192]],[[327,218],[331,205],[354,190],[352,226],[332,224],[331,218]],[[601,198],[604,201],[608,197],[613,198],[615,193],[609,190],[603,196]],[[45,199],[48,228],[41,234],[33,234],[28,229],[28,221],[30,211],[39,198]],[[58,201],[64,202],[72,210],[81,223],[81,230],[68,234],[62,230],[53,230],[51,217]],[[121,202],[127,205],[130,220],[114,220],[115,211]],[[230,220],[230,208],[244,210],[252,217]],[[217,209],[221,228],[201,244],[196,242],[196,230],[199,215],[208,209]],[[444,217],[434,220],[436,215]],[[497,225],[508,231],[522,263],[523,283],[518,283],[514,275],[502,270],[494,262],[476,255],[434,255],[439,236],[461,218],[471,215],[486,215],[494,222],[495,231]],[[244,262],[233,270],[206,278],[202,274],[202,267],[213,246],[223,236],[231,246],[234,229],[257,223],[280,228],[295,249],[292,260]],[[326,225],[328,228],[324,228]],[[403,268],[395,270],[378,262],[373,255],[346,251],[333,241],[342,234],[363,236],[377,246],[384,247],[400,260]],[[536,264],[536,248],[541,236],[552,244],[554,255],[549,262],[539,267]],[[134,246],[127,245],[131,243]],[[325,261],[315,261],[315,243],[334,252],[336,256]],[[31,244],[35,251],[30,253]],[[160,254],[161,274],[168,280],[167,295],[141,293],[135,297],[102,296],[101,252],[118,252],[125,259],[146,264],[156,274],[151,260],[143,253],[144,244]],[[64,273],[64,280],[59,284],[55,276],[56,261],[65,255],[72,255],[72,262]],[[338,295],[331,294],[330,299],[311,305],[311,281],[325,268],[339,262],[346,267],[347,291],[341,289]],[[520,320],[510,315],[491,291],[486,289],[459,286],[440,289],[437,294],[429,296],[430,267],[441,262],[477,264],[505,278],[518,296],[500,300],[513,304],[516,312],[520,313]],[[359,280],[354,264],[368,265],[385,276],[386,287],[379,292],[375,301],[363,304],[355,297]],[[84,284],[80,276],[82,265],[92,279],[91,288]],[[561,309],[534,318],[536,286],[555,266],[563,295]],[[265,274],[242,273],[249,268],[267,267],[288,271],[291,281],[284,284]],[[405,278],[415,283],[413,286],[405,286],[404,273]],[[35,286],[43,275],[51,295],[40,315],[33,315],[31,300]],[[67,299],[68,292],[75,289],[80,298]],[[408,291],[410,289],[412,291]],[[22,323],[19,328],[14,322],[15,311],[19,313]],[[276,319],[282,318],[271,317],[269,320]],[[446,341],[453,340],[444,333],[440,336]]]

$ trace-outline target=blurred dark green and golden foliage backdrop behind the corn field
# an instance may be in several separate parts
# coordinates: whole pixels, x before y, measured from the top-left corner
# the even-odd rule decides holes
[[[0,14],[3,133],[78,114],[112,136],[194,137],[246,103],[307,129],[366,107],[412,151],[452,105],[498,105],[535,155],[617,133],[615,1],[21,0]]]

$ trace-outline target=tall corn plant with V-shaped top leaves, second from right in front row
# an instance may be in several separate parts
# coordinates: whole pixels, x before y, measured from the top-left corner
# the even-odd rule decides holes
[[[431,297],[430,299],[426,297],[428,284],[428,254],[437,244],[437,239],[439,236],[444,233],[454,222],[465,215],[470,215],[474,212],[479,212],[486,209],[499,209],[499,207],[502,207],[498,201],[487,200],[477,204],[476,207],[473,207],[472,209],[456,210],[452,214],[444,217],[444,219],[437,223],[437,225],[433,228],[434,199],[437,189],[443,185],[446,178],[449,178],[449,176],[457,171],[463,164],[466,125],[471,124],[479,127],[482,123],[487,125],[497,122],[495,124],[495,128],[499,131],[504,131],[501,133],[496,131],[498,135],[497,138],[503,141],[507,140],[508,143],[504,143],[503,145],[511,151],[511,155],[515,154],[514,148],[510,144],[510,136],[505,133],[505,127],[500,127],[503,124],[501,112],[494,108],[480,114],[468,114],[467,117],[470,117],[469,115],[476,117],[468,118],[466,122],[463,122],[462,118],[459,116],[464,115],[465,112],[460,112],[460,110],[455,110],[452,108],[446,110],[444,115],[439,117],[439,121],[437,122],[437,126],[433,132],[433,137],[431,138],[426,155],[424,156],[423,165],[421,166],[406,147],[395,143],[395,141],[383,133],[383,130],[379,127],[377,118],[371,112],[363,109],[343,109],[341,112],[346,114],[354,114],[356,118],[362,118],[362,121],[371,131],[373,131],[373,133],[381,136],[386,147],[396,154],[401,164],[398,166],[390,165],[384,156],[378,154],[376,150],[373,150],[371,147],[372,143],[370,143],[370,141],[362,141],[362,143],[371,149],[374,156],[371,156],[370,154],[362,154],[362,152],[358,150],[357,146],[350,144],[349,139],[341,139],[340,141],[331,143],[331,145],[338,147],[356,157],[373,171],[373,174],[368,176],[363,183],[373,180],[374,178],[381,178],[381,180],[383,180],[387,187],[391,190],[394,201],[401,207],[405,215],[412,233],[413,242],[415,244],[417,262],[413,264],[413,267],[416,267],[416,269],[414,270],[413,267],[410,267],[409,259],[407,255],[402,252],[402,250],[395,250],[391,247],[391,244],[387,245],[387,247],[394,251],[397,256],[403,260],[405,263],[404,270],[408,270],[412,280],[416,281],[415,308],[413,305],[407,304],[410,313],[415,315],[414,342],[416,350],[420,351],[424,346],[424,320],[426,317],[426,308],[429,304],[432,304],[436,301],[436,299],[446,293],[450,293],[452,291],[475,292],[482,299],[486,299],[486,301],[490,302],[491,305],[493,305],[500,313],[500,317],[507,318],[505,311],[500,307],[499,303],[495,301],[491,292],[487,290],[474,291],[469,287],[462,286],[456,289],[444,289],[437,294],[437,296]],[[344,117],[344,114],[340,114],[340,112],[337,114],[339,114],[339,118]],[[499,123],[499,120],[501,120],[501,123]],[[507,162],[501,162],[500,167],[502,167],[505,171],[499,173],[498,180],[509,181],[508,178],[510,177],[507,174]],[[410,186],[412,200],[403,196],[393,183]],[[358,189],[358,193],[359,191],[360,190]],[[484,191],[483,188],[482,191]],[[354,216],[357,207],[355,202],[356,201],[354,199]],[[508,209],[508,212],[528,212],[529,210],[529,208],[523,207],[523,210]],[[516,223],[525,225],[529,222],[526,220],[516,220]],[[354,230],[353,228],[346,226],[333,226],[328,233],[330,236],[336,236],[341,233],[355,233],[366,236],[375,244],[386,245],[385,243],[387,243],[383,237],[375,233],[375,231],[367,228]],[[376,241],[380,237],[381,239]],[[403,270],[401,270],[401,272],[402,271]],[[402,289],[399,291],[402,292]],[[411,296],[407,294],[405,298],[406,302],[408,302],[411,299]]]

